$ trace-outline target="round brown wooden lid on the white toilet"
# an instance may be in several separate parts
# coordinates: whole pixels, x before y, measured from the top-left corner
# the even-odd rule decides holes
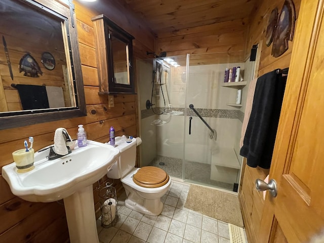
[[[156,188],[167,184],[169,175],[160,168],[144,166],[133,176],[133,181],[142,187]]]

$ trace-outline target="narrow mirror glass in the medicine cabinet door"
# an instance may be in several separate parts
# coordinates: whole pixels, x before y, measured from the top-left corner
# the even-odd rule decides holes
[[[114,37],[111,39],[111,45],[114,81],[117,84],[129,85],[130,73],[128,68],[128,45]]]

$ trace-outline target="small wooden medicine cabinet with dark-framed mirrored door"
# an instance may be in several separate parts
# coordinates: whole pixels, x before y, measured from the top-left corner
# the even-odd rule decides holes
[[[134,94],[133,39],[104,15],[92,18],[96,36],[99,94]]]

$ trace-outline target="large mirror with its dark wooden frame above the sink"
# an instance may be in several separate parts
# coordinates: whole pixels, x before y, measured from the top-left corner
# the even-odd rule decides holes
[[[86,115],[69,1],[6,0],[0,15],[0,129]]]

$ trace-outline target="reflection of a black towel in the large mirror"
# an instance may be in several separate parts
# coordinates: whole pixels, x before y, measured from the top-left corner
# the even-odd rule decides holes
[[[23,110],[50,108],[45,86],[39,85],[11,85],[19,93]]]

